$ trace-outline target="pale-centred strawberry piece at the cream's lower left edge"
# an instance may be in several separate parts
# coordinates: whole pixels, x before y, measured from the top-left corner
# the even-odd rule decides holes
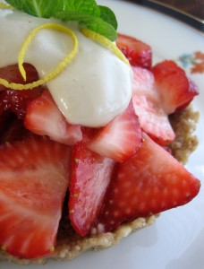
[[[48,135],[59,143],[73,145],[82,139],[81,126],[66,121],[48,90],[30,102],[24,125],[34,134]]]

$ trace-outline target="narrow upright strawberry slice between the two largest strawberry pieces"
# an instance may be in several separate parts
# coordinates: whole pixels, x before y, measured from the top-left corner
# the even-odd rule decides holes
[[[88,133],[73,146],[69,212],[74,230],[81,236],[89,233],[100,212],[114,161],[87,148]]]

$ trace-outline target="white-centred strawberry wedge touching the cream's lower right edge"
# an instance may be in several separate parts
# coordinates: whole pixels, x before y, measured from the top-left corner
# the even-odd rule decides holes
[[[141,129],[132,105],[102,128],[89,143],[89,149],[114,161],[125,161],[141,145]]]

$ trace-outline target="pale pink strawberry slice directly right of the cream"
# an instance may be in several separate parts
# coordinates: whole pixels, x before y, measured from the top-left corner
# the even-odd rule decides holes
[[[132,101],[141,128],[159,144],[172,142],[174,131],[160,101],[153,74],[141,67],[132,67],[132,71]]]

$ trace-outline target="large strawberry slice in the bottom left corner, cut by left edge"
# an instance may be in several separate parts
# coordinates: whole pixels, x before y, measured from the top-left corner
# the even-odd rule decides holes
[[[21,258],[50,256],[69,183],[69,146],[41,137],[0,148],[0,246]]]

